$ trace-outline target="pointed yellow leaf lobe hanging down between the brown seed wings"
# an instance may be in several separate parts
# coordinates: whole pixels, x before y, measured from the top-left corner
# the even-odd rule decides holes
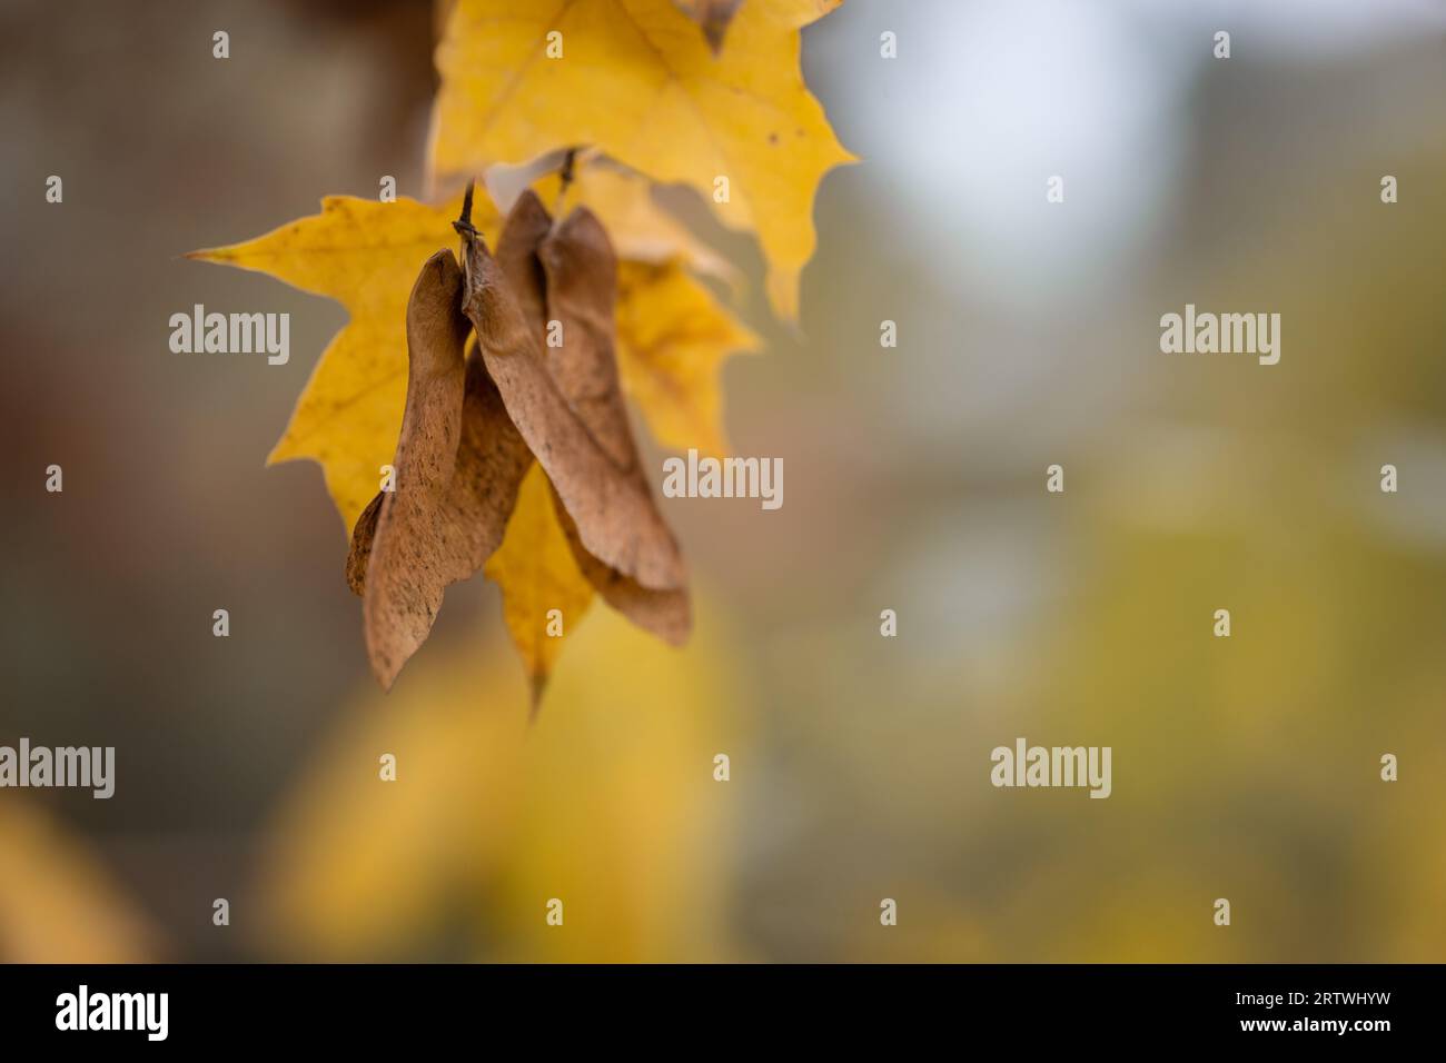
[[[483,576],[502,587],[502,618],[532,680],[532,696],[552,673],[567,632],[593,600],[593,584],[573,560],[573,550],[552,508],[542,466],[532,463],[518,489],[502,545],[487,558]],[[555,618],[551,616],[557,610]],[[549,628],[557,625],[552,633]]]

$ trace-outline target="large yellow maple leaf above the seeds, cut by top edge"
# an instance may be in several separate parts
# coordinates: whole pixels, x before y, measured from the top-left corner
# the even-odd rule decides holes
[[[448,179],[596,146],[756,233],[769,299],[797,318],[814,192],[855,158],[798,64],[800,27],[839,3],[745,3],[714,56],[672,0],[460,0],[437,49],[431,169]]]

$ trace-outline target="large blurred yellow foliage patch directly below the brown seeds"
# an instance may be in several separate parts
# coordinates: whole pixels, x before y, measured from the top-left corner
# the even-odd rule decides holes
[[[340,960],[726,959],[735,784],[748,740],[716,609],[684,651],[610,610],[529,727],[500,631],[366,690],[288,803],[263,894],[268,946]],[[398,781],[379,780],[395,754]],[[743,764],[739,765],[739,761]],[[545,923],[551,898],[564,924]]]

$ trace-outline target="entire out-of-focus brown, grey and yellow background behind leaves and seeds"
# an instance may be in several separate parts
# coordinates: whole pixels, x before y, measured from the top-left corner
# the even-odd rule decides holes
[[[865,162],[820,189],[801,328],[677,201],[752,276],[727,424],[785,505],[668,500],[693,645],[594,605],[531,729],[480,577],[376,693],[320,469],[262,467],[343,311],[179,257],[424,194],[434,35],[427,3],[0,10],[0,742],[119,761],[110,801],[0,791],[0,957],[1446,959],[1442,4],[805,30]],[[291,363],[171,354],[195,302],[291,312]],[[1186,302],[1278,311],[1280,364],[1161,354]],[[1021,735],[1112,746],[1113,795],[992,788]]]

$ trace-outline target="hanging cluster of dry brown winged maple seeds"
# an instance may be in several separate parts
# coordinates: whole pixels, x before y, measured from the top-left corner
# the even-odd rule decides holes
[[[525,192],[493,257],[470,204],[469,189],[454,223],[464,266],[440,250],[412,288],[396,486],[363,511],[347,557],[383,688],[427,639],[447,587],[502,542],[534,457],[578,568],[603,599],[675,645],[691,626],[683,557],[642,473],[617,382],[617,262],[606,231],[586,208],[555,226]],[[561,327],[560,347],[545,344],[548,321]],[[464,357],[469,328],[477,343]]]

